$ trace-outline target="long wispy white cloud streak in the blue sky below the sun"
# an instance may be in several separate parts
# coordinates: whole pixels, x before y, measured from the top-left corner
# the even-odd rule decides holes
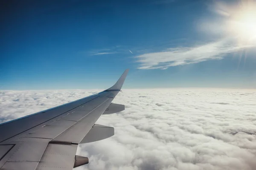
[[[230,40],[219,40],[194,47],[167,48],[165,51],[146,53],[136,58],[137,62],[140,62],[139,69],[166,69],[177,65],[202,62],[208,59],[222,59],[227,54],[251,46],[238,46]]]

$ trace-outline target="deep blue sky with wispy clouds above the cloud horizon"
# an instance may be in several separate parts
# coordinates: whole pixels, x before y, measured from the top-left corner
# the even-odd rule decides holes
[[[108,88],[126,68],[125,88],[256,88],[238,4],[215,2],[1,1],[0,90]]]

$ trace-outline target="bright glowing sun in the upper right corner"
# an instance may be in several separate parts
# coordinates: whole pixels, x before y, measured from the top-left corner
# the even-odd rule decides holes
[[[256,42],[256,4],[246,3],[240,6],[229,20],[229,30],[239,38],[242,44]]]

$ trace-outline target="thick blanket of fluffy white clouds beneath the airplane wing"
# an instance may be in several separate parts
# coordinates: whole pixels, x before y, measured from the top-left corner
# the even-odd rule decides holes
[[[0,120],[61,105],[99,90],[0,91]],[[102,115],[111,138],[81,144],[78,170],[255,170],[256,91],[124,89],[125,111]]]

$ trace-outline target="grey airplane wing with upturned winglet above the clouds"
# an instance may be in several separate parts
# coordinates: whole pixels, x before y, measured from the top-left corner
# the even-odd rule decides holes
[[[98,94],[0,124],[0,169],[72,170],[87,164],[88,158],[76,155],[77,146],[114,135],[113,127],[95,122],[124,110],[111,102],[127,74]]]

